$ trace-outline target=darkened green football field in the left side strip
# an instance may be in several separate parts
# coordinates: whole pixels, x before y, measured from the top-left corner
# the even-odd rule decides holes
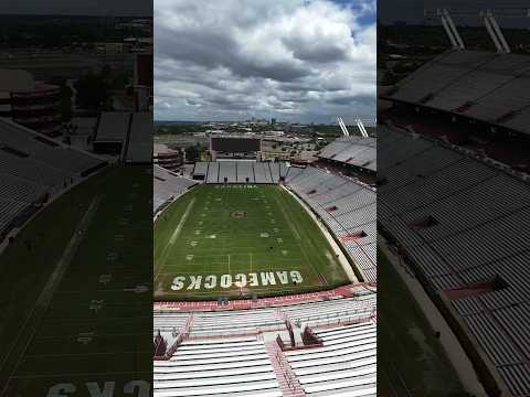
[[[149,170],[94,175],[0,256],[0,396],[149,395]]]

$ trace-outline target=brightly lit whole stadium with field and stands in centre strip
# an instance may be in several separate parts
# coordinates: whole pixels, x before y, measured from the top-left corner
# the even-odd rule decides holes
[[[375,396],[375,138],[259,148],[155,167],[155,396]]]

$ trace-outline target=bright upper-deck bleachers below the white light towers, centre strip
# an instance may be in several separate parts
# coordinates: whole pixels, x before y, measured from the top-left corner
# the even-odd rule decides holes
[[[340,137],[326,146],[318,157],[375,171],[378,167],[377,139],[353,136]]]

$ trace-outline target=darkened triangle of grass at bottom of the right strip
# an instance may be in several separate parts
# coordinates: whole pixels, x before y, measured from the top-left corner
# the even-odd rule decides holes
[[[467,396],[422,310],[378,254],[378,396]]]

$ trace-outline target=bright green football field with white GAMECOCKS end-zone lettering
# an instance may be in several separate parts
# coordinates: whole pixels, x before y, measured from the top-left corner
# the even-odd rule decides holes
[[[326,289],[347,276],[315,221],[277,185],[202,184],[155,224],[155,299]]]

